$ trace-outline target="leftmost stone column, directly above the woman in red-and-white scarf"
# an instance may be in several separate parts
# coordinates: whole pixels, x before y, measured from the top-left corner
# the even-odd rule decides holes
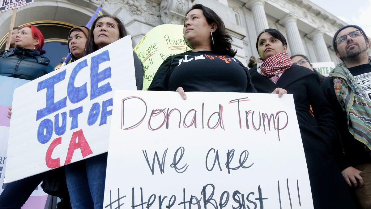
[[[254,25],[256,29],[256,35],[259,35],[264,29],[269,28],[267,16],[264,10],[264,0],[251,0],[249,6],[253,12]]]

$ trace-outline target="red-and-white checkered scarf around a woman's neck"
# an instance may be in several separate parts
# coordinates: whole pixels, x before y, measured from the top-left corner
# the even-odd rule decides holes
[[[278,53],[262,61],[259,60],[257,72],[277,83],[279,77],[292,66],[290,55],[287,52]]]

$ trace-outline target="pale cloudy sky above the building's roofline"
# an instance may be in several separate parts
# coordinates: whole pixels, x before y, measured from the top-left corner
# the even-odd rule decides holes
[[[351,25],[358,25],[371,37],[371,0],[310,0]]]

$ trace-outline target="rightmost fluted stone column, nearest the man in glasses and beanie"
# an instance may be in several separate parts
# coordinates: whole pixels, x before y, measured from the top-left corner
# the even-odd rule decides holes
[[[324,39],[324,33],[316,29],[309,33],[308,36],[313,40],[318,62],[331,62],[331,57]]]

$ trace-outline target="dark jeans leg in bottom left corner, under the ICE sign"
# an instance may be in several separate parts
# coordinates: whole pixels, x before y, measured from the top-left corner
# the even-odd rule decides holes
[[[0,195],[0,209],[20,209],[43,178],[44,173],[40,173],[7,184]]]

